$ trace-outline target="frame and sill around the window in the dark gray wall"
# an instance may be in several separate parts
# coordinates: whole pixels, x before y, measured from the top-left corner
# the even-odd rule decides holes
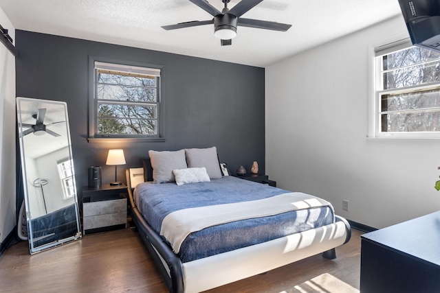
[[[141,75],[153,75],[157,77],[157,99],[155,103],[151,103],[155,104],[157,107],[157,134],[98,134],[98,99],[96,97],[98,69]],[[162,66],[160,65],[89,56],[89,135],[87,141],[108,143],[120,141],[165,141],[162,118],[164,117],[164,110],[162,107],[161,95],[161,70]],[[117,103],[117,101],[115,101],[115,103]]]

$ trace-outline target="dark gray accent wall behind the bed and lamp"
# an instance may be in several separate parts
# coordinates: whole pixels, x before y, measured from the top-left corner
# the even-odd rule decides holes
[[[250,171],[253,161],[265,172],[265,69],[23,30],[16,43],[17,96],[67,102],[79,190],[92,165],[102,166],[102,183],[114,180],[115,167],[105,165],[112,148],[124,149],[123,181],[124,169],[142,167],[148,150],[213,145],[232,172],[239,165]],[[164,142],[87,141],[89,56],[163,66]]]

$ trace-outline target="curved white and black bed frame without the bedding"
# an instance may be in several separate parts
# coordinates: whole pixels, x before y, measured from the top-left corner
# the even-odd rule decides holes
[[[135,207],[133,188],[144,182],[143,168],[127,169],[126,180],[133,222],[159,266],[168,290],[173,293],[209,290],[319,253],[327,259],[335,259],[334,248],[349,242],[351,237],[347,220],[336,216],[333,224],[181,263],[170,246],[153,231]]]

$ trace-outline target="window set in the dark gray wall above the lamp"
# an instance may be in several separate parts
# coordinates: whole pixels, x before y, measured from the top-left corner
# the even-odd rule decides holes
[[[160,69],[93,61],[89,138],[159,138]]]

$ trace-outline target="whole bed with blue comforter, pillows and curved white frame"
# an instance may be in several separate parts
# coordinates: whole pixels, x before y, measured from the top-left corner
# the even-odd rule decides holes
[[[320,253],[334,259],[350,239],[325,200],[223,176],[215,147],[148,154],[144,167],[126,170],[130,211],[170,292],[209,290]]]

